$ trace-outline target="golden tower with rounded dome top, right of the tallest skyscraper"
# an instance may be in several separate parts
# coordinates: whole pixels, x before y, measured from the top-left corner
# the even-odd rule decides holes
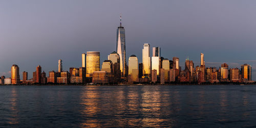
[[[129,71],[128,77],[129,82],[139,81],[139,69],[138,69],[138,58],[136,55],[131,55],[129,57]]]

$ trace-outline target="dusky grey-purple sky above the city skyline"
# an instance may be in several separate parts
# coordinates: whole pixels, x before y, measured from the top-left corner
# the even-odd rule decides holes
[[[81,67],[81,54],[100,51],[101,64],[116,51],[122,14],[126,61],[142,62],[143,44],[161,48],[161,56],[185,58],[206,67],[252,66],[256,80],[256,1],[0,1],[0,76],[18,65],[20,78],[40,65],[42,71]],[[152,54],[152,53],[151,53]]]

